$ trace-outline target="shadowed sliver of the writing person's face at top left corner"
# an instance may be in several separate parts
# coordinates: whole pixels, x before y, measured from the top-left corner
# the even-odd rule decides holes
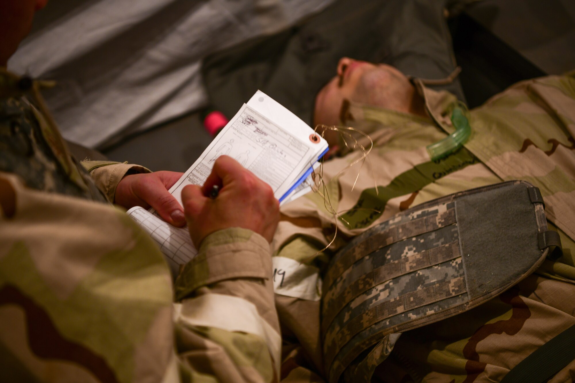
[[[0,66],[16,52],[20,41],[32,28],[34,12],[48,0],[0,0]]]

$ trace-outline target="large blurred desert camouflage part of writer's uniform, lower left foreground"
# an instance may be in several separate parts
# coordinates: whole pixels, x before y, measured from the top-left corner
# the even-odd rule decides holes
[[[124,212],[0,172],[0,381],[177,381],[172,302]]]

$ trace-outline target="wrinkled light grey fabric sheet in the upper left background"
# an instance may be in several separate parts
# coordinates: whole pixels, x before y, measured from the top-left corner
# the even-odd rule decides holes
[[[44,95],[63,136],[103,148],[204,106],[205,55],[278,32],[332,1],[51,1],[8,67],[56,80]]]

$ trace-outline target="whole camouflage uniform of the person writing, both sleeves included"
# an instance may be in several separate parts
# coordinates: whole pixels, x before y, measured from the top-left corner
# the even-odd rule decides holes
[[[218,231],[174,288],[114,208],[131,164],[84,162],[39,96],[0,69],[0,381],[271,382],[281,338],[269,243]]]

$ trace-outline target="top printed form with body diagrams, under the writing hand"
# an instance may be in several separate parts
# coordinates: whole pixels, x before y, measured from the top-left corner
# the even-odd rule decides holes
[[[171,187],[170,193],[181,203],[183,187],[203,185],[216,159],[228,155],[241,161],[244,167],[268,183],[275,197],[279,198],[290,189],[301,169],[316,160],[312,160],[317,155],[312,150],[313,143],[306,143],[306,139],[307,136],[300,138],[278,127],[244,104],[200,158]]]

